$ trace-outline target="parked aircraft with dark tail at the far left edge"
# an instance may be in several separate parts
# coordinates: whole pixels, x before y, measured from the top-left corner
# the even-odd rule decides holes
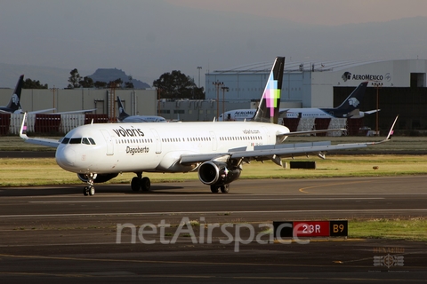
[[[9,100],[9,104],[7,104],[7,106],[0,106],[0,113],[7,113],[7,114],[23,114],[24,113],[22,111],[22,106],[20,105],[20,93],[22,91],[23,84],[24,84],[24,75],[20,75],[20,79],[18,80],[18,83],[16,83],[16,87],[12,93],[11,100]],[[47,112],[52,112],[52,110],[54,109],[55,108],[40,109],[40,110],[28,112],[28,114],[43,114]],[[84,110],[73,110],[73,111],[60,112],[60,113],[54,113],[54,114],[78,114],[78,113],[92,112],[94,110],[96,110],[96,108],[84,109]]]

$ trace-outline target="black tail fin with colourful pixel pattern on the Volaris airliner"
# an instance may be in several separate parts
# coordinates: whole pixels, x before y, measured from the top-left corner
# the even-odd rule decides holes
[[[269,80],[262,93],[260,105],[252,121],[278,123],[278,110],[280,107],[280,93],[282,91],[284,67],[285,58],[277,57],[271,68]]]

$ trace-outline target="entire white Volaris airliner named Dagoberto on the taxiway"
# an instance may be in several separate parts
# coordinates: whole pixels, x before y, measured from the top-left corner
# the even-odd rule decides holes
[[[285,58],[276,58],[262,93],[262,102],[252,122],[130,122],[79,126],[60,141],[28,138],[26,116],[20,137],[27,142],[54,146],[56,162],[64,170],[77,173],[93,195],[93,184],[105,182],[121,172],[134,172],[133,191],[149,190],[149,177],[143,172],[189,172],[198,170],[200,181],[213,193],[229,191],[238,179],[242,163],[272,160],[281,165],[282,157],[318,154],[329,150],[364,147],[380,142],[342,144],[282,144],[286,137],[325,130],[290,132],[278,125],[278,107]],[[394,124],[393,124],[394,126]],[[334,130],[336,131],[336,130]]]

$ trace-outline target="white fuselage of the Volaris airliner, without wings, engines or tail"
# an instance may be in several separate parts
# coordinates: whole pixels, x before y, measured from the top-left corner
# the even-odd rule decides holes
[[[197,162],[182,164],[183,154],[224,154],[241,147],[250,151],[276,144],[276,134],[287,132],[285,126],[262,122],[88,124],[68,132],[56,161],[81,174],[187,172]]]

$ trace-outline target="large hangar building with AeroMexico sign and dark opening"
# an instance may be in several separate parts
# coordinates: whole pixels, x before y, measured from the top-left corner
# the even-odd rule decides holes
[[[205,74],[206,99],[222,99],[222,87],[228,87],[229,101],[260,99],[271,62],[246,65]],[[359,83],[368,81],[361,111],[381,109],[379,124],[387,130],[396,114],[399,130],[427,130],[427,60],[335,61],[294,63],[285,61],[283,107],[339,106]],[[295,106],[300,102],[300,106]],[[289,105],[291,104],[291,105]],[[365,117],[375,125],[375,114]]]

